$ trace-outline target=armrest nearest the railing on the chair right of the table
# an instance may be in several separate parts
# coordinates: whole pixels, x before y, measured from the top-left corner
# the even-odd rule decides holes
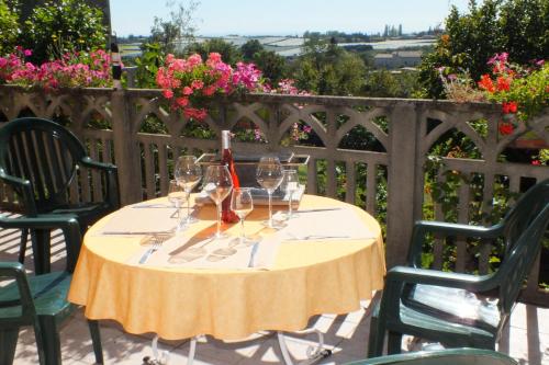
[[[438,233],[442,237],[461,236],[477,237],[481,239],[497,238],[503,232],[503,225],[491,227],[460,225],[445,221],[418,220],[414,225],[412,242],[408,251],[408,265],[421,266],[421,253],[426,233]]]

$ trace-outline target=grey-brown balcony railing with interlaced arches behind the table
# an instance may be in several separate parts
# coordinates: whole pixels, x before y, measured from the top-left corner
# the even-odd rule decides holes
[[[460,150],[452,150],[432,175],[441,183],[446,181],[445,172],[461,176],[458,183],[444,185],[451,190],[446,204],[453,204],[450,210],[458,223],[490,216],[502,193],[513,196],[549,176],[545,166],[504,162],[502,153],[526,127],[502,138],[497,132],[500,107],[492,104],[250,94],[216,101],[206,121],[191,128],[195,122],[184,121],[167,107],[158,90],[75,89],[46,93],[3,85],[0,96],[0,121],[21,115],[59,119],[86,141],[92,158],[115,163],[124,204],[166,194],[175,157],[183,151],[199,155],[215,150],[220,145],[215,136],[222,129],[259,128],[261,141],[237,141],[234,149],[310,155],[307,192],[360,205],[386,224],[389,266],[404,262],[415,220],[448,217],[441,202],[429,201],[426,190],[432,186],[427,184],[425,166],[428,156],[436,152],[437,146],[444,146],[451,133],[451,138],[464,138],[479,157],[460,158]],[[163,133],[145,133],[147,123],[156,123]],[[312,127],[310,140],[315,140],[314,146],[289,138],[294,123]],[[529,128],[549,145],[548,113],[530,121]],[[16,202],[8,190],[0,193],[4,206]],[[81,170],[69,193],[74,199],[99,199],[101,179]],[[430,260],[438,269],[448,267],[450,260],[451,270],[486,273],[491,270],[493,243],[480,242],[471,252],[466,240],[457,239],[455,249],[448,251],[445,242],[435,240]],[[538,258],[523,297],[547,306],[549,296],[539,288],[539,274]]]

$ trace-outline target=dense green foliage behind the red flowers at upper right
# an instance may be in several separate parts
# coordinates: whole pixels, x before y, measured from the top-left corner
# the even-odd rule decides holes
[[[486,60],[507,52],[509,61],[525,65],[549,55],[549,2],[547,0],[470,1],[468,13],[456,7],[446,19],[446,34],[421,66],[425,96],[441,98],[444,88],[437,71],[467,71],[479,80],[490,71]]]

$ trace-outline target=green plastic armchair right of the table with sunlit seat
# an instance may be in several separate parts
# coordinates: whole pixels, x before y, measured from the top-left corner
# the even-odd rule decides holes
[[[408,266],[389,271],[370,324],[368,357],[401,351],[403,334],[445,347],[494,350],[524,281],[539,253],[549,221],[549,180],[530,187],[515,207],[492,227],[418,221]],[[469,275],[421,269],[425,235],[502,238],[506,253],[495,273]]]

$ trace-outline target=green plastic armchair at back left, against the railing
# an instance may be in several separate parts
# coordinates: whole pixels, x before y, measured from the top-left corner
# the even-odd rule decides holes
[[[70,204],[68,187],[80,167],[98,170],[104,179],[104,199]],[[120,207],[116,167],[100,163],[87,156],[78,138],[57,123],[25,117],[0,128],[0,181],[10,185],[27,217],[43,214],[74,214],[81,232],[107,214]],[[51,231],[27,227],[34,254],[35,272],[49,272]],[[23,229],[19,262],[24,262],[29,230]],[[67,255],[68,271],[78,258]]]

